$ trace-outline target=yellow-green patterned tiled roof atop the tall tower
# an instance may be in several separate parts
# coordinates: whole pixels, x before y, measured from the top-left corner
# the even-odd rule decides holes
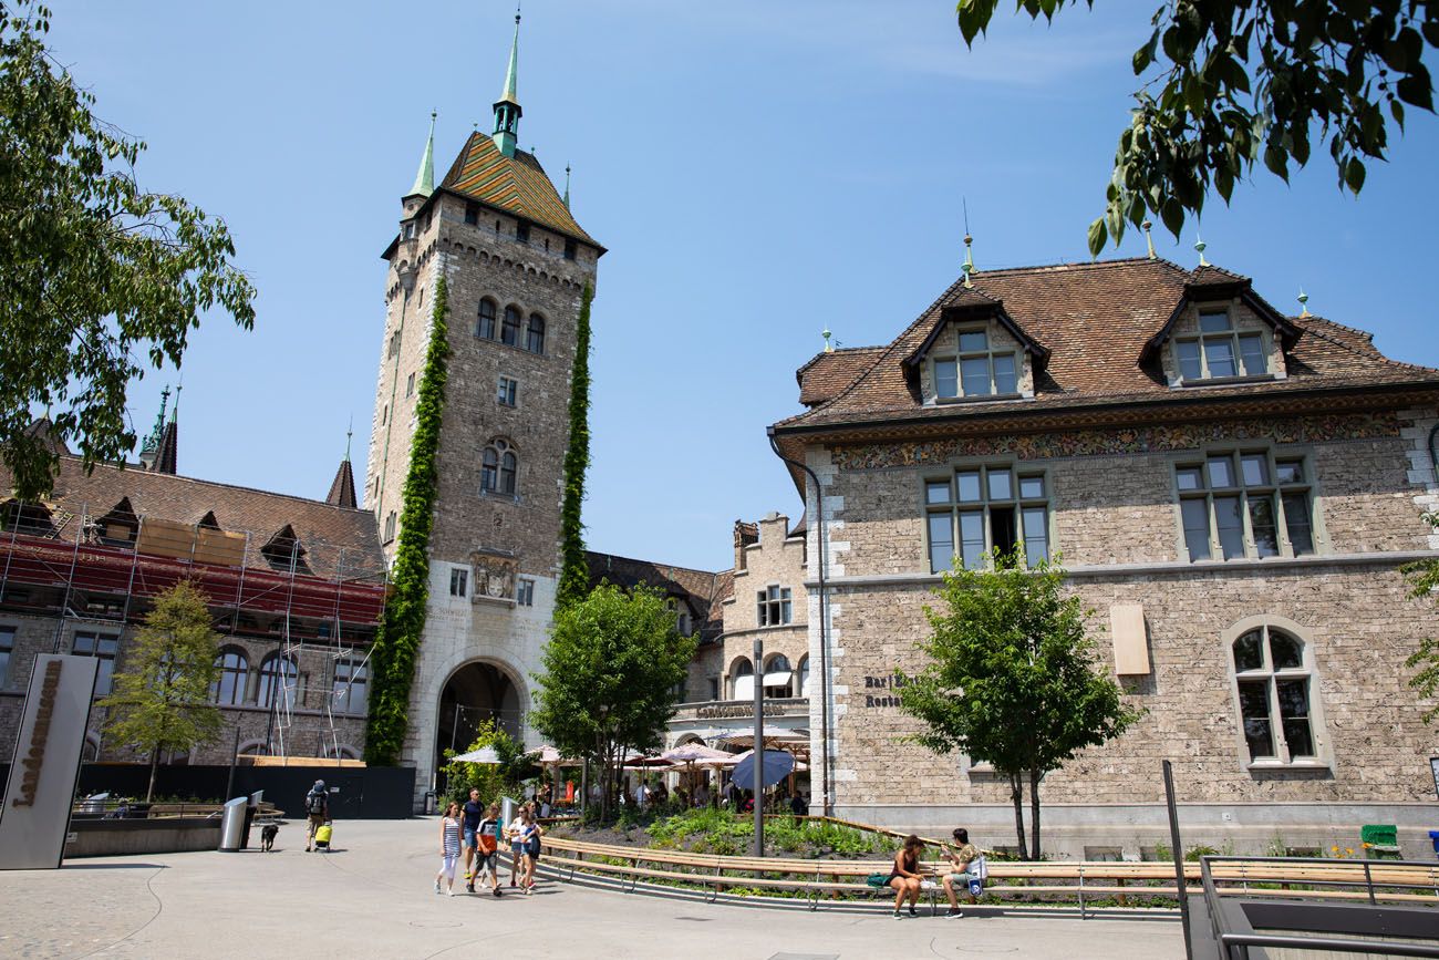
[[[534,154],[517,150],[514,157],[507,157],[494,140],[481,132],[471,134],[465,141],[440,187],[599,246],[570,216],[570,209]]]

